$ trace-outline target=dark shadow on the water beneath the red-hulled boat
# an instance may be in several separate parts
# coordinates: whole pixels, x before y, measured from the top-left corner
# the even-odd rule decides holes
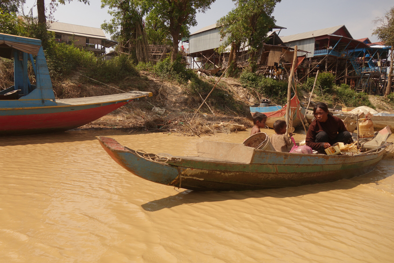
[[[96,140],[98,136],[124,135],[125,131],[119,130],[70,130],[66,132],[7,136],[0,138],[1,146],[33,145],[33,144],[52,144],[70,143]]]

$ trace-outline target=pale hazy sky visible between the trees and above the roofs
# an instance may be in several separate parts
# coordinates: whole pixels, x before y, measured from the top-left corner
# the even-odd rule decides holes
[[[35,0],[26,0],[25,13],[35,4]],[[393,6],[393,0],[282,0],[276,4],[273,15],[276,25],[287,28],[279,36],[345,25],[353,38],[369,38],[376,42],[379,40],[372,36],[376,28],[372,20],[382,17]],[[232,0],[216,0],[205,13],[197,13],[198,24],[190,32],[216,23],[234,7]],[[36,6],[33,11],[36,15]],[[90,0],[90,5],[77,0],[60,5],[54,17],[58,22],[96,28],[111,19],[107,9],[101,9],[100,0]],[[110,38],[110,35],[105,35]]]

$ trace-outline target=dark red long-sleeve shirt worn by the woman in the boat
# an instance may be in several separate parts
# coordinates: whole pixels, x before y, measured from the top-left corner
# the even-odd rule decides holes
[[[306,134],[305,143],[313,150],[321,150],[323,143],[315,143],[316,134],[325,131],[330,140],[333,140],[338,135],[338,132],[347,131],[343,121],[335,116],[328,115],[326,122],[319,122],[317,119],[312,121],[309,125],[308,133]]]

